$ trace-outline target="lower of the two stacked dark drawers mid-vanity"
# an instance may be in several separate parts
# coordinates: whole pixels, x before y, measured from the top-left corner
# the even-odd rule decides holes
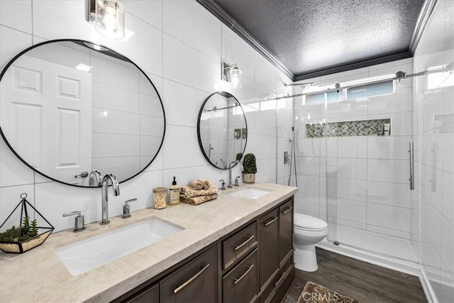
[[[257,249],[222,279],[223,302],[254,302],[258,298]]]

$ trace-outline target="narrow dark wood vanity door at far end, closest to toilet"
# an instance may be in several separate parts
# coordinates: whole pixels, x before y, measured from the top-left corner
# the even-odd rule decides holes
[[[279,207],[279,264],[293,250],[293,199]]]

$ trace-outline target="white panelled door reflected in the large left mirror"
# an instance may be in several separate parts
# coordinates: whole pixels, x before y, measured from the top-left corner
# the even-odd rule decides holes
[[[1,89],[9,143],[36,170],[74,182],[92,165],[91,74],[30,56],[10,68],[2,85],[11,89]]]

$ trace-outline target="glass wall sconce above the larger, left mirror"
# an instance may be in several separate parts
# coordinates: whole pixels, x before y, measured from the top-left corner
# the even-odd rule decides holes
[[[125,11],[118,0],[89,0],[89,22],[106,37],[125,36]]]

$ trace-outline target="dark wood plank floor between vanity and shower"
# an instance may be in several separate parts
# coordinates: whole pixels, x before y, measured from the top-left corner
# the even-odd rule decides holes
[[[317,248],[319,270],[296,270],[295,282],[284,303],[298,301],[312,281],[360,302],[427,302],[419,278]]]

